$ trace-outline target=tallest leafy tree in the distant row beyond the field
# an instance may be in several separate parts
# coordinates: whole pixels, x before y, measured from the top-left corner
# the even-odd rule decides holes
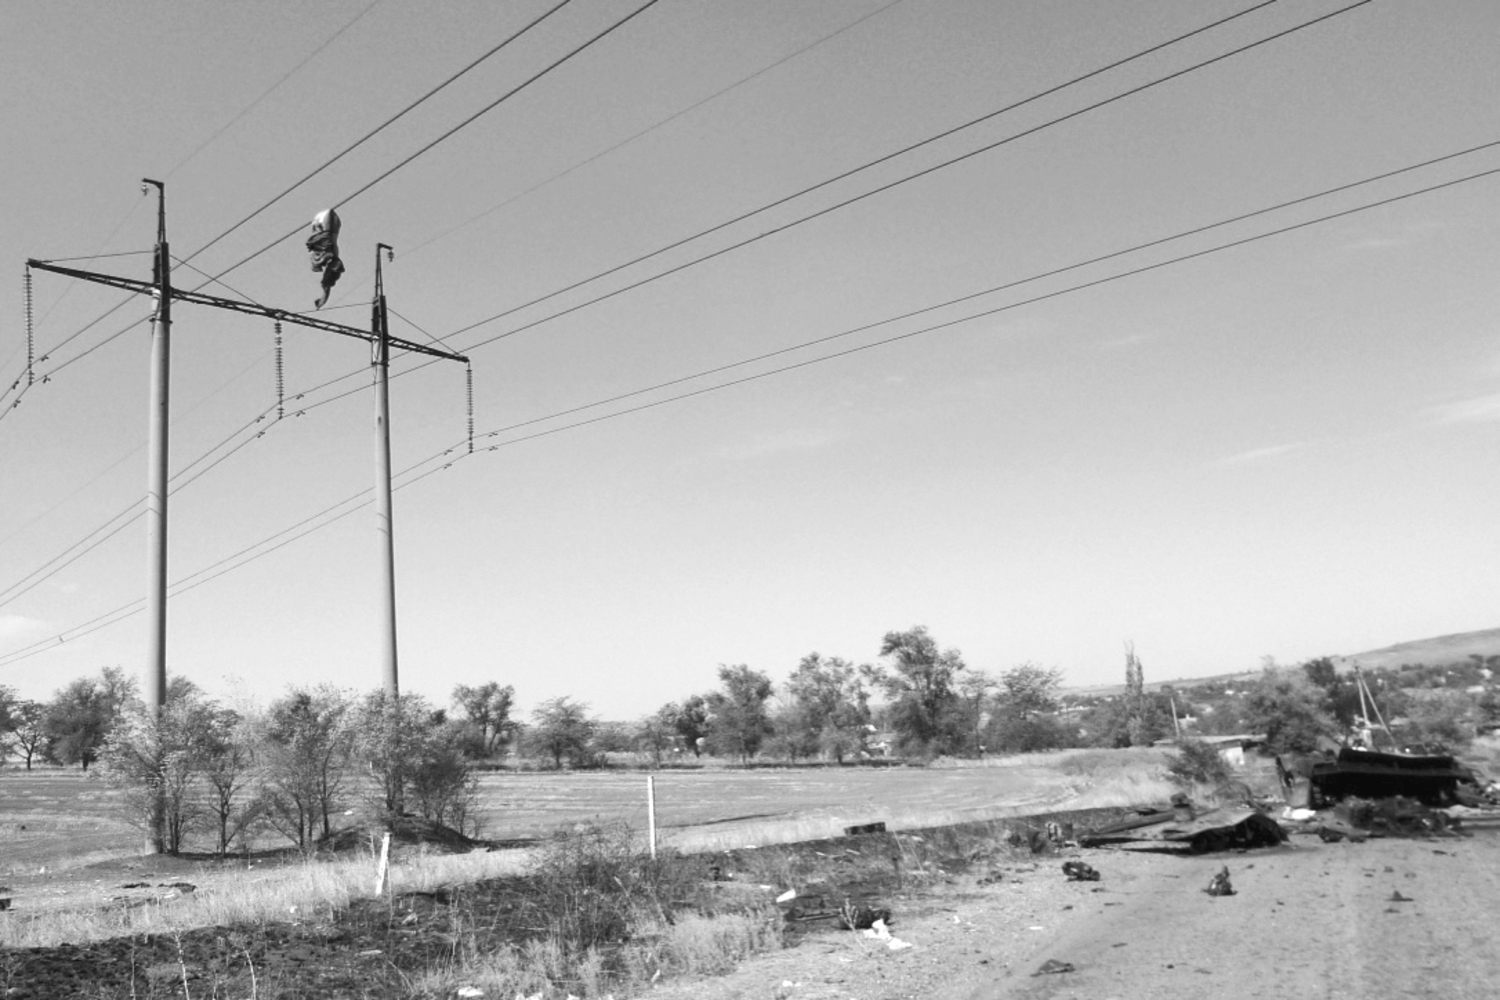
[[[890,721],[903,747],[954,753],[963,745],[958,681],[966,670],[957,649],[939,649],[926,625],[891,631],[880,642],[886,667],[868,676],[890,699]]]

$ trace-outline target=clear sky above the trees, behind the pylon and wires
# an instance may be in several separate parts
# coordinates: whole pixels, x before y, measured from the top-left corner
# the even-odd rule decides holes
[[[144,666],[150,300],[34,271],[30,381],[22,301],[150,277],[142,177],[177,286],[309,310],[336,205],[320,315],[388,243],[392,333],[471,358],[472,454],[464,366],[392,366],[438,703],[633,718],[914,625],[1070,685],[1496,627],[1500,145],[1450,154],[1500,6],[1191,69],[1352,1],[658,0],[568,57],[645,3],[573,0],[441,88],[556,0],[0,4],[0,684]],[[172,318],[168,673],[378,687],[369,348],[285,327],[278,418],[268,319]]]

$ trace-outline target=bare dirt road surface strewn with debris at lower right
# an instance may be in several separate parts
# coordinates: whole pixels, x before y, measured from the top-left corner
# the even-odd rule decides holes
[[[1066,882],[1080,858],[1096,883]],[[1232,897],[1204,889],[1227,867]],[[892,951],[828,933],[652,1000],[1218,1000],[1500,996],[1500,831],[1178,856],[1068,852],[897,901]],[[1400,894],[1401,901],[1394,901]],[[1035,975],[1047,961],[1072,972]]]

